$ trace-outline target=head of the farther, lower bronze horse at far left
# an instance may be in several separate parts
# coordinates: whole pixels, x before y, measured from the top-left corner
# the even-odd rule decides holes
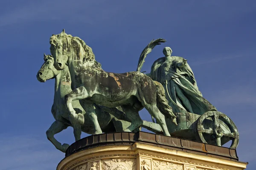
[[[44,64],[36,75],[39,82],[46,82],[46,80],[53,79],[60,73],[60,71],[54,67],[53,63],[53,57],[51,55],[44,54]]]

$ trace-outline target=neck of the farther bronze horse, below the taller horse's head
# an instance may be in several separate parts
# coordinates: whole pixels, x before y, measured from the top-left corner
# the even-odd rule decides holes
[[[71,78],[68,67],[65,65],[64,69],[55,77],[55,94],[54,98],[63,98],[69,94],[71,89]]]

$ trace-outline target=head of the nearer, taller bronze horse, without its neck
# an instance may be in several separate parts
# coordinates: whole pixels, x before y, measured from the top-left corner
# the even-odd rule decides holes
[[[61,34],[53,34],[52,37],[50,37],[50,51],[54,58],[54,66],[57,70],[62,70],[64,68],[64,65],[70,55],[71,51],[67,39],[67,37],[70,36],[71,35],[66,34],[63,29]]]

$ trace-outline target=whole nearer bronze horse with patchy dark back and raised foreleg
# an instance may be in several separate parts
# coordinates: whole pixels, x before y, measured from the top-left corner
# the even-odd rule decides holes
[[[165,116],[177,125],[176,116],[159,82],[137,71],[124,74],[103,71],[92,49],[79,37],[72,37],[64,30],[52,35],[50,44],[55,68],[62,70],[67,63],[70,71],[73,91],[65,96],[65,102],[73,121],[83,124],[82,115],[78,116],[71,104],[73,100],[79,100],[98,129],[97,133],[102,133],[93,103],[109,108],[121,106],[131,120],[131,125],[124,131],[131,132],[143,124],[138,112],[145,107],[160,124],[164,135],[170,136]]]

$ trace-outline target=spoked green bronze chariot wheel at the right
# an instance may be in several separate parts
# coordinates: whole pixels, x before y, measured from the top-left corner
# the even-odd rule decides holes
[[[206,125],[205,122],[208,123]],[[227,129],[222,128],[223,124],[225,124]],[[221,126],[222,125],[222,126]],[[236,149],[239,143],[239,133],[234,122],[224,113],[219,111],[208,111],[204,113],[202,116],[198,118],[198,134],[202,142],[208,143],[204,137],[204,134],[211,135],[216,144],[221,146],[222,139],[226,138],[232,140],[232,144],[230,146],[231,149]]]

